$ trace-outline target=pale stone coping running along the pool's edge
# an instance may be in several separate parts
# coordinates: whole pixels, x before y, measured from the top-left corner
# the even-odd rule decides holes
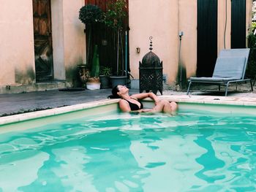
[[[189,96],[189,95],[164,95],[159,96],[160,99],[167,99],[168,101],[176,101],[177,103],[187,104],[224,104],[233,106],[248,106],[256,107],[256,98],[235,97],[235,96]],[[144,99],[145,101],[152,101],[151,99]],[[98,101],[91,101],[83,104],[75,104],[65,107],[57,107],[49,110],[40,110],[36,112],[26,112],[18,115],[9,115],[0,118],[0,126],[9,123],[18,123],[24,120],[31,120],[35,118],[45,118],[52,115],[61,115],[67,112],[75,112],[79,110],[91,109],[107,104],[116,104],[119,99],[102,99]]]

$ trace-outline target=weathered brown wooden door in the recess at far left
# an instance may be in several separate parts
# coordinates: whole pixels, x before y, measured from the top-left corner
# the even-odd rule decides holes
[[[53,79],[50,0],[33,0],[34,56],[37,82]]]

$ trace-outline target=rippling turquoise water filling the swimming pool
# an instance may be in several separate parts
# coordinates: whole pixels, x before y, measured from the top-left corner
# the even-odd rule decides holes
[[[256,191],[256,118],[108,113],[0,134],[0,191]]]

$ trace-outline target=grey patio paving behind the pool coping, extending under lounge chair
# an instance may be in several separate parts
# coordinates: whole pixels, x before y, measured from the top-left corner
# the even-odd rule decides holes
[[[256,89],[256,88],[255,88]],[[229,94],[226,99],[234,100],[235,98],[243,98],[244,101],[255,101],[256,103],[256,91],[250,91],[249,83],[238,85],[236,90],[236,85],[231,85],[229,88]],[[180,98],[193,98],[194,96],[220,96],[224,97],[224,88],[222,91],[218,91],[218,87],[195,85],[191,89],[189,96],[186,95],[186,90],[184,91],[171,91],[164,90],[163,96],[171,96],[170,98],[180,99]],[[138,90],[130,89],[129,93],[139,93]],[[107,99],[111,94],[111,89],[100,89],[96,91],[37,91],[29,93],[10,93],[10,94],[0,94],[0,116],[12,115],[22,112],[30,112],[36,110],[45,110],[56,107],[69,106],[73,104],[83,104],[90,101],[98,101],[101,99]],[[157,93],[160,96],[160,93]],[[201,97],[206,99],[206,97]],[[232,98],[232,99],[231,99]],[[237,99],[235,99],[237,100]],[[241,100],[241,99],[240,99]]]

